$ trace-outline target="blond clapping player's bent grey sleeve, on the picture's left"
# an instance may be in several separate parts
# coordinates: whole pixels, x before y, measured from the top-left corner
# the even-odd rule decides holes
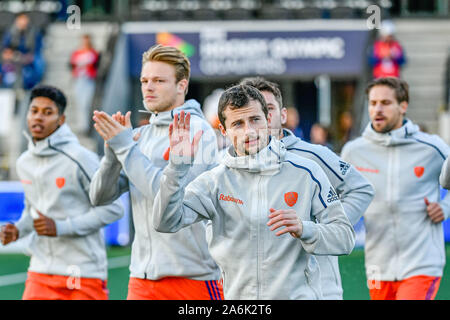
[[[110,147],[105,145],[105,156],[89,188],[91,204],[93,206],[111,204],[128,190],[128,179],[122,172],[122,165]]]

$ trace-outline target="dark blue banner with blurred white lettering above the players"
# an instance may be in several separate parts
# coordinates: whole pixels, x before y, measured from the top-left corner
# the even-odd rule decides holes
[[[136,61],[151,45],[160,43],[177,47],[189,57],[193,77],[361,74],[369,30],[324,24],[317,29],[291,25],[270,31],[265,23],[260,24],[261,30],[249,31],[229,30],[227,24],[192,32],[181,26],[170,31],[159,26],[154,32],[125,28],[129,31],[129,69],[132,76],[139,76],[141,65]]]

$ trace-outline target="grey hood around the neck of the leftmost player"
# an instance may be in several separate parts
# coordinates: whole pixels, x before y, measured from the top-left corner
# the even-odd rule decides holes
[[[47,138],[40,141],[34,142],[28,132],[24,132],[24,135],[28,139],[28,151],[40,157],[52,156],[58,153],[54,148],[59,149],[65,144],[78,142],[78,138],[66,123],[56,129],[56,131]]]

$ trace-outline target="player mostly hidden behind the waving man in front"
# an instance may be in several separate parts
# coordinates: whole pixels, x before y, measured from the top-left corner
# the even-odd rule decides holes
[[[271,135],[280,139],[287,151],[316,162],[327,175],[336,190],[348,219],[355,225],[372,201],[374,190],[370,182],[352,165],[346,163],[330,149],[311,144],[296,137],[292,131],[283,129],[287,110],[283,107],[281,91],[276,83],[261,77],[245,78],[241,84],[257,88],[267,103]],[[317,256],[320,265],[322,292],[324,299],[342,299],[342,284],[338,257]]]

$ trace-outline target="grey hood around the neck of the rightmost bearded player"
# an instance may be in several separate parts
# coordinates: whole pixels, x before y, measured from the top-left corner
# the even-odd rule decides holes
[[[362,136],[382,146],[395,146],[411,143],[411,140],[409,140],[409,138],[418,131],[418,125],[412,123],[412,121],[409,119],[405,119],[403,126],[387,133],[376,132],[372,128],[372,124],[369,123]]]

